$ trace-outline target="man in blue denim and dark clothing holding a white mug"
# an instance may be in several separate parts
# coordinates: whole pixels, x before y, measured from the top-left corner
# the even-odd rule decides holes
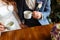
[[[49,21],[47,17],[50,15],[51,8],[51,0],[15,0],[18,8],[18,15],[20,17],[21,22],[24,21],[24,24],[27,26],[39,26],[39,25],[47,25]],[[39,4],[42,4],[41,8],[36,11],[36,8]],[[24,11],[29,10],[32,11],[32,18],[25,19]]]

